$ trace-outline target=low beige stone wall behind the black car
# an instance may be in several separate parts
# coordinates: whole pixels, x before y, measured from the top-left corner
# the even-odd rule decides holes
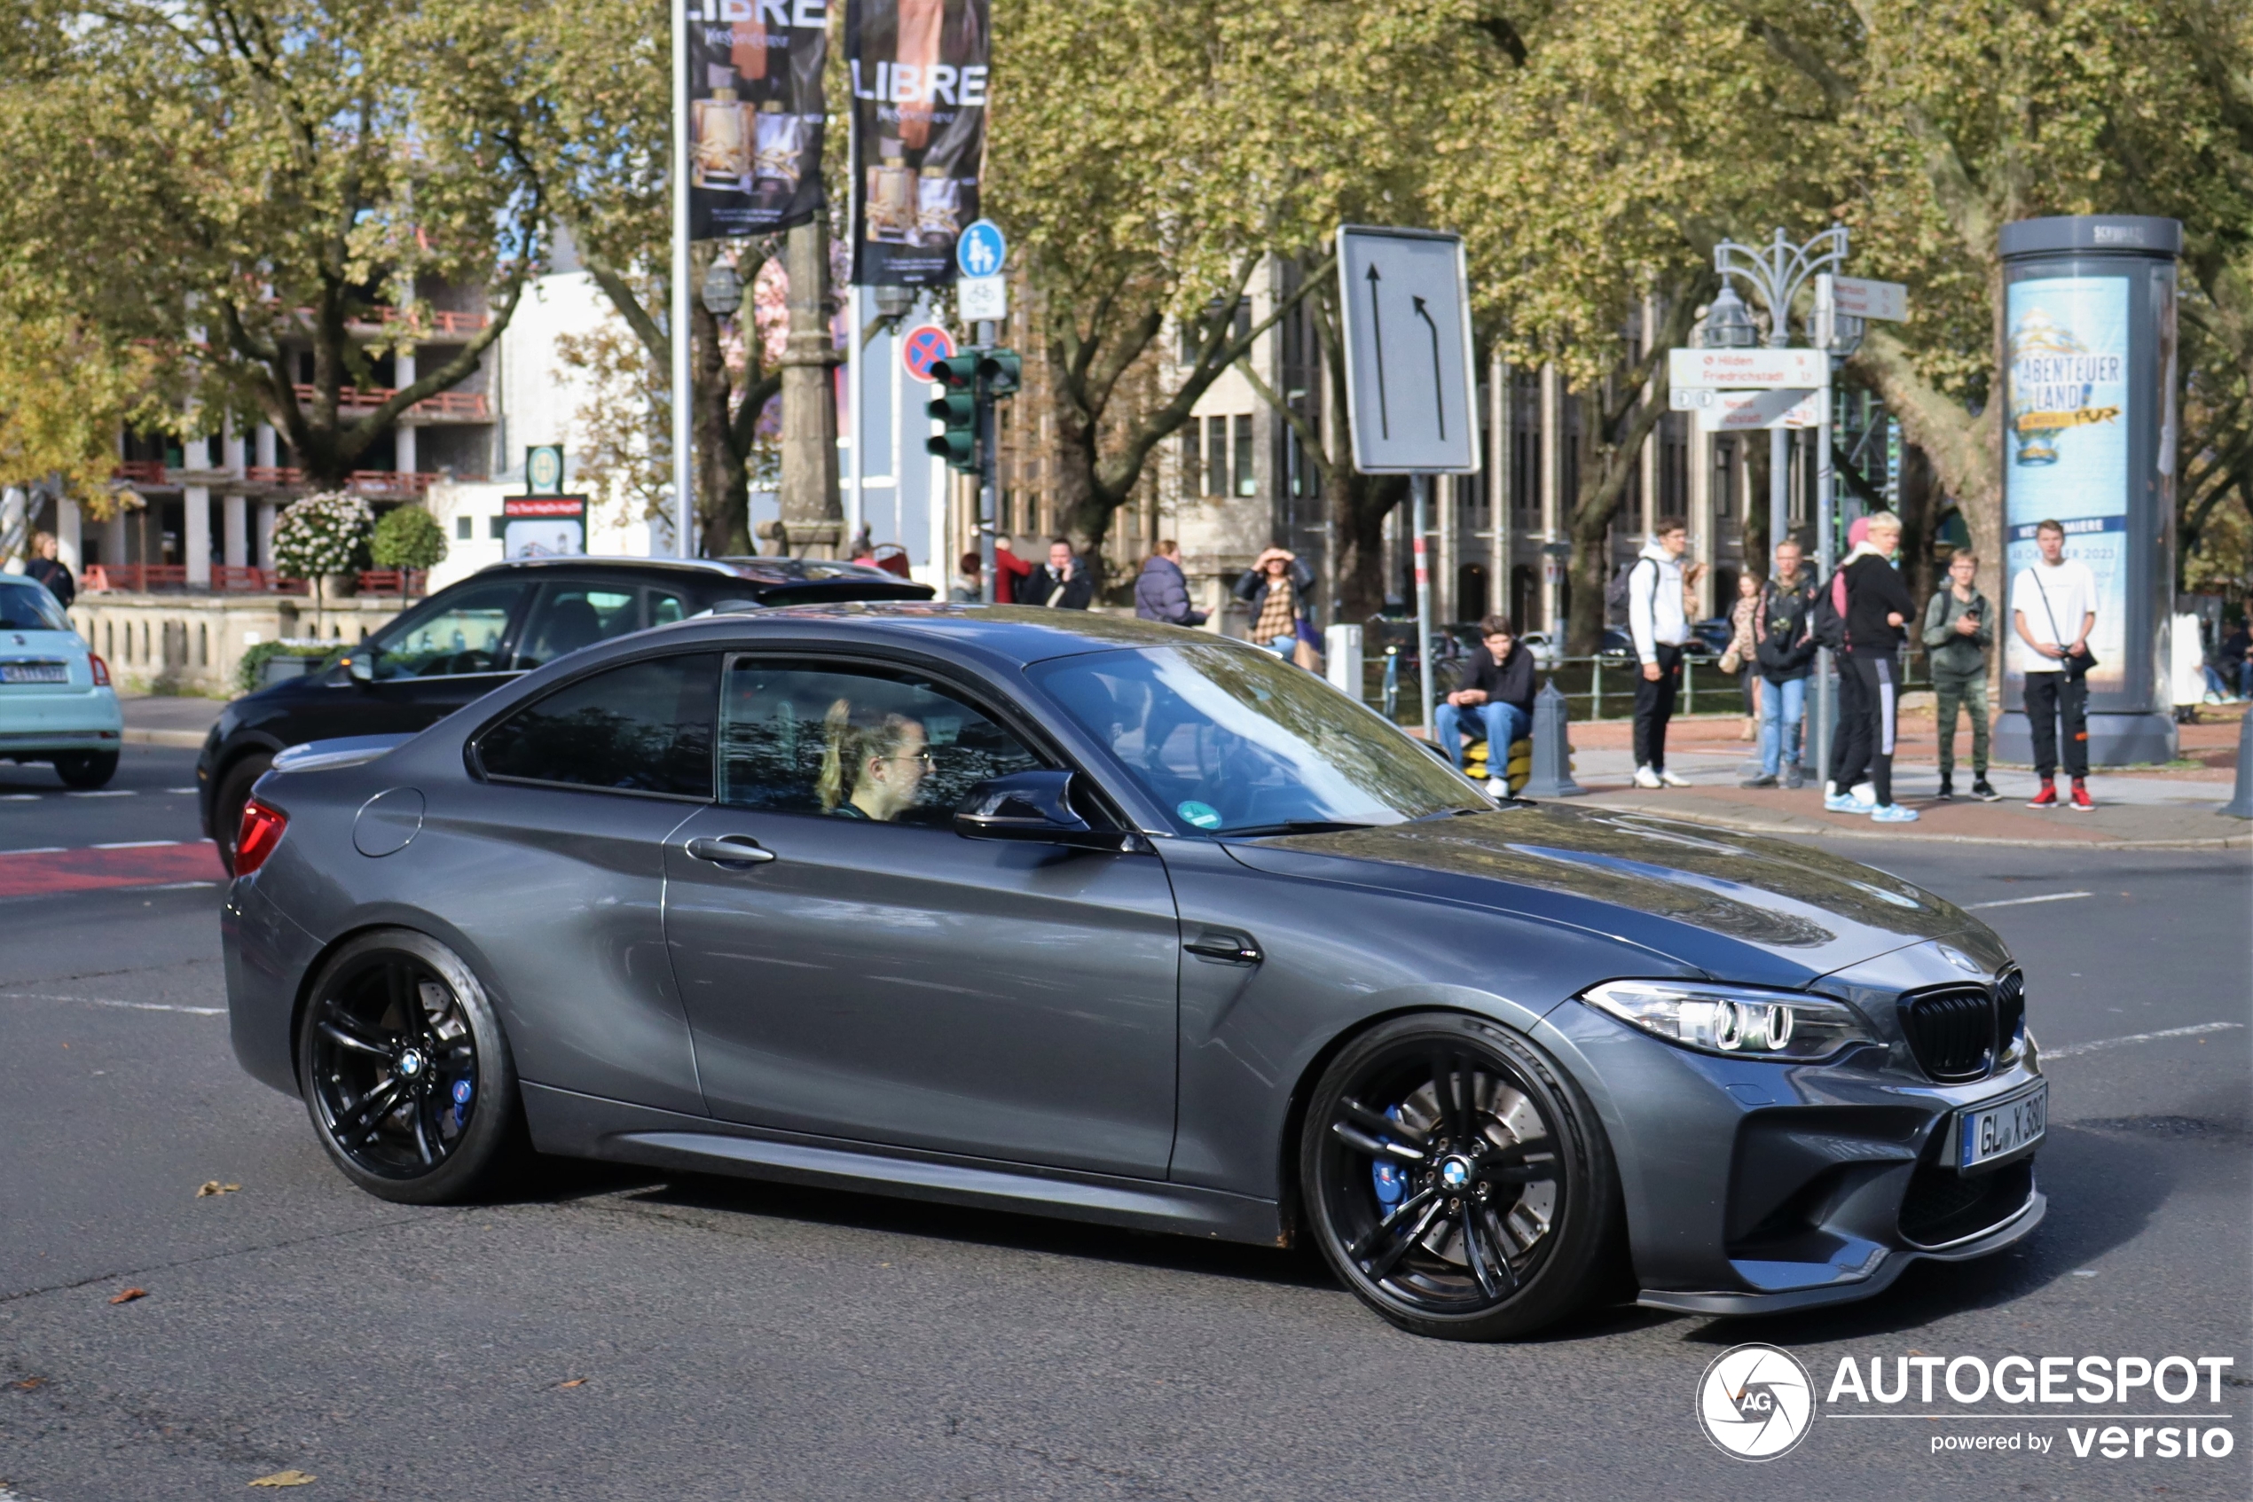
[[[412,604],[412,601],[406,601]],[[234,698],[243,651],[282,637],[358,642],[401,610],[394,594],[79,594],[70,624],[110,664],[122,694]]]

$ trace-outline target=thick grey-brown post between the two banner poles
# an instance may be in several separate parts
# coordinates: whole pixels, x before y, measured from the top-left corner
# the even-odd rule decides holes
[[[782,552],[838,558],[845,502],[838,493],[838,408],[829,338],[829,225],[816,216],[786,236],[791,338],[782,349]]]

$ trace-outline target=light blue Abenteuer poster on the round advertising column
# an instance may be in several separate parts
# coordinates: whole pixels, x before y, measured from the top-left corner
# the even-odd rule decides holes
[[[2005,313],[2007,579],[2039,558],[2034,527],[2057,520],[2066,556],[2086,563],[2098,581],[2098,622],[2089,633],[2098,667],[2089,689],[2102,694],[2118,689],[2127,669],[2129,430],[2140,421],[2127,381],[2129,284],[2127,277],[2014,281]],[[2010,631],[2005,662],[2014,689],[2030,660],[2032,649]]]

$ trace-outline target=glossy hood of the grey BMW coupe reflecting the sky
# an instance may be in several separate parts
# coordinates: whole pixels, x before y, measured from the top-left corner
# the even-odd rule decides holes
[[[1712,980],[1805,986],[1924,939],[2003,948],[1944,898],[1805,844],[1640,813],[1514,804],[1379,829],[1230,842],[1277,876],[1381,887],[1566,923]],[[1469,932],[1467,932],[1469,939]]]

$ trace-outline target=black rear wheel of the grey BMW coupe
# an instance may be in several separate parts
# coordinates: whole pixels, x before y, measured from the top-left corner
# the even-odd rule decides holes
[[[360,935],[322,966],[297,1079],[329,1157],[385,1200],[475,1198],[518,1146],[516,1072],[491,1002],[426,935]]]

